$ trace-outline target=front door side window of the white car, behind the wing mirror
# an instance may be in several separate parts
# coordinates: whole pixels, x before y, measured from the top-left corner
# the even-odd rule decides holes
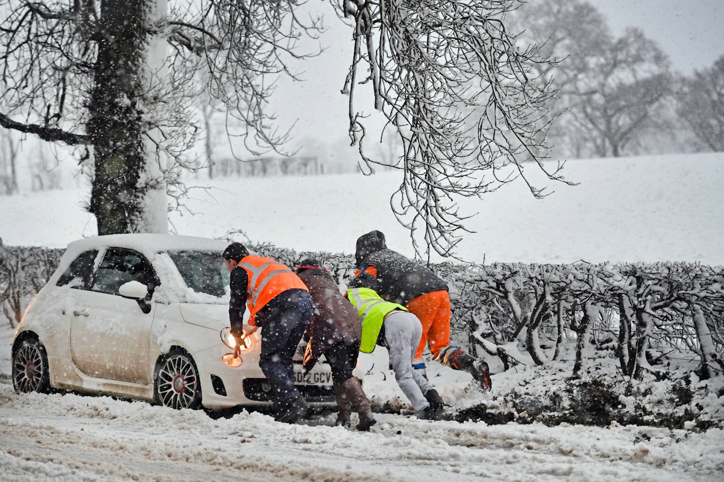
[[[130,249],[111,248],[104,254],[90,289],[117,295],[118,288],[129,281],[138,281],[148,287],[147,301],[159,285],[156,272],[143,255]]]

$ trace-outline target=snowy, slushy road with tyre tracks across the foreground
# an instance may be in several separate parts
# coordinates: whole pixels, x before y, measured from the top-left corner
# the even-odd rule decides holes
[[[79,395],[15,395],[0,380],[3,481],[721,481],[724,432],[418,421],[368,434],[259,413]],[[323,425],[324,424],[324,425]]]

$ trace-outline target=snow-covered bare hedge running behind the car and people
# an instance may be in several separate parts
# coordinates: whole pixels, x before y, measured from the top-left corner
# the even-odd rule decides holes
[[[344,289],[354,257],[251,246],[288,266],[319,259]],[[60,249],[0,246],[0,302],[11,324],[55,269]],[[724,268],[654,264],[434,264],[447,280],[455,343],[503,369],[541,365],[576,340],[573,375],[594,358],[618,358],[621,374],[666,371],[670,358],[698,361],[699,376],[724,371]]]

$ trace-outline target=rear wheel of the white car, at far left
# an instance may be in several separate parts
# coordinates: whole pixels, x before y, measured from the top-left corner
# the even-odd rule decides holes
[[[37,338],[26,338],[13,350],[12,387],[15,393],[50,392],[48,355]]]

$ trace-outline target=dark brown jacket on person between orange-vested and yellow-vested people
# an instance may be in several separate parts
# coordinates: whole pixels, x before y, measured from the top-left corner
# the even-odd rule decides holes
[[[316,266],[297,267],[295,272],[309,288],[314,301],[314,314],[307,327],[310,342],[304,355],[304,370],[311,370],[319,356],[337,343],[353,345],[358,350],[362,340],[360,316],[342,296],[332,276]]]

